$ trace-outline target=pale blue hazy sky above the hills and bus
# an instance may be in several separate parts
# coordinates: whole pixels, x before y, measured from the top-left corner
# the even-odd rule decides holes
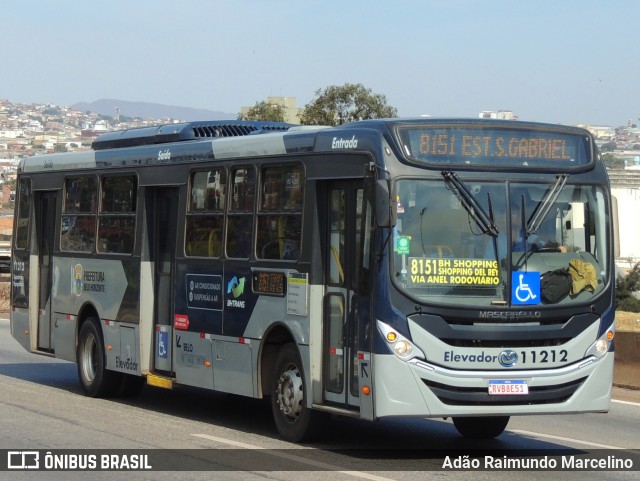
[[[620,126],[640,116],[637,0],[20,0],[0,98],[233,113],[361,83],[401,117]]]

